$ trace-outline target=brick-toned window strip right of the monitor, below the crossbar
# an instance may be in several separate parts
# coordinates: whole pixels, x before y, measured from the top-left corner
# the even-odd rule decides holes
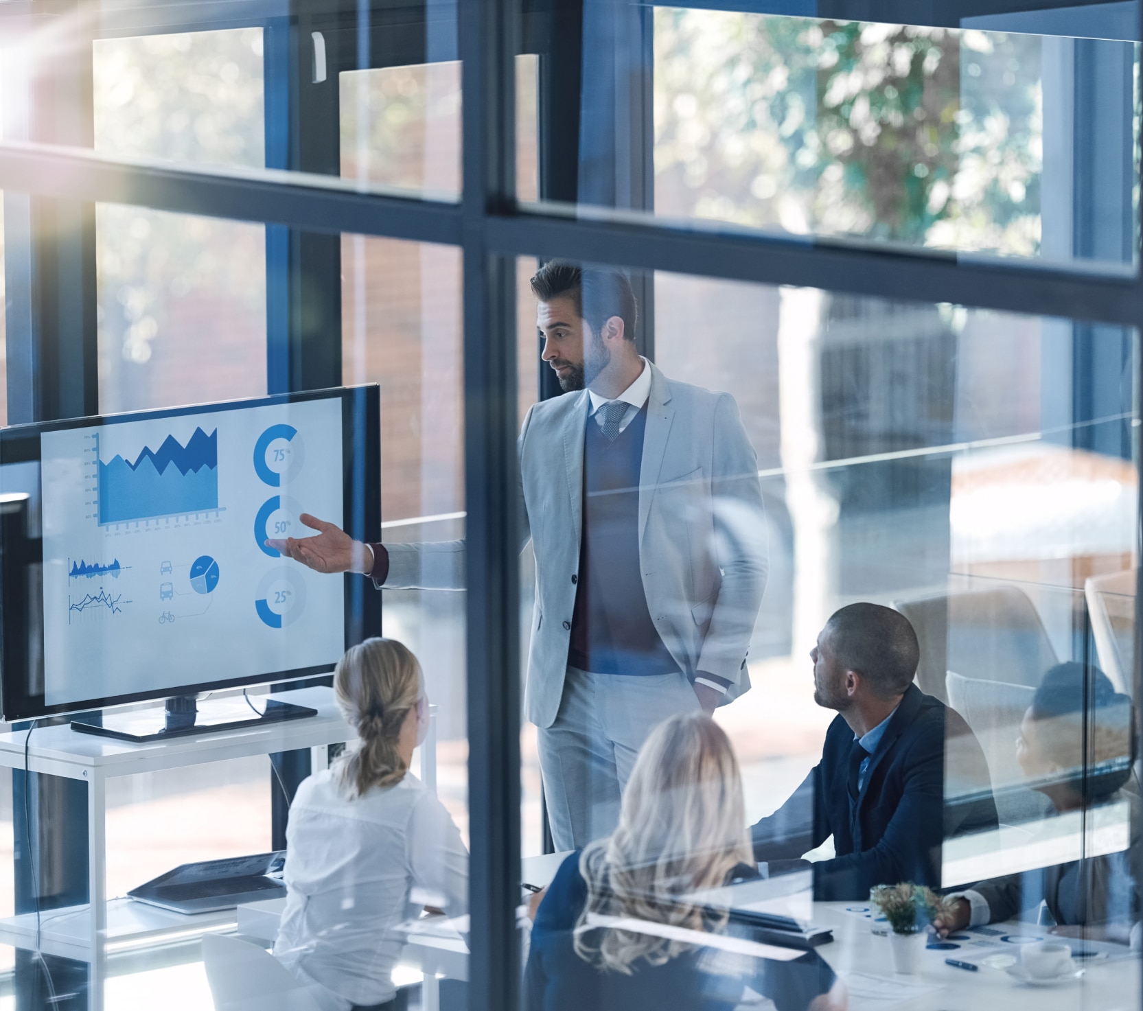
[[[459,250],[342,238],[342,375],[381,385],[381,500],[386,543],[464,533]],[[424,665],[435,716],[437,789],[469,827],[464,596],[387,589],[385,634]]]

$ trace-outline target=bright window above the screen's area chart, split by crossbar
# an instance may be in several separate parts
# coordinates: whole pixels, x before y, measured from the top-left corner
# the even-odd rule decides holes
[[[97,40],[96,150],[264,163],[262,31]],[[266,392],[262,225],[96,208],[104,411]]]

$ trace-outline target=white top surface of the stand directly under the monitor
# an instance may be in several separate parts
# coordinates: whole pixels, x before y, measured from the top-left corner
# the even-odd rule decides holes
[[[261,696],[258,700],[265,698],[309,706],[317,709],[318,715],[263,727],[192,733],[141,744],[78,733],[67,724],[41,727],[32,732],[29,764],[34,772],[48,772],[70,779],[87,779],[94,771],[102,776],[131,776],[189,763],[319,747],[352,740],[357,736],[342,719],[331,688],[303,688]],[[24,768],[26,737],[26,730],[0,733],[0,767]]]

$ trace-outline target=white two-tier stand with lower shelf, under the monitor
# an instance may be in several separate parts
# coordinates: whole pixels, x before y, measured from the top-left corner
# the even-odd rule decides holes
[[[318,715],[265,727],[245,727],[145,744],[77,733],[66,724],[42,727],[32,732],[29,747],[29,769],[32,772],[62,776],[87,784],[90,904],[43,912],[40,916],[40,949],[48,955],[91,964],[89,1011],[103,1009],[102,984],[109,947],[114,950],[211,931],[223,932],[233,930],[238,922],[233,909],[186,916],[131,899],[107,901],[106,781],[115,776],[134,776],[299,748],[313,749],[312,768],[317,771],[326,768],[328,745],[349,741],[357,736],[342,719],[330,688],[304,688],[271,697],[310,706],[318,711]],[[435,721],[432,724],[430,740],[425,741],[422,755],[422,778],[434,783],[435,769],[432,767],[435,748],[431,737],[435,730]],[[0,768],[24,768],[26,737],[26,730],[0,733]],[[35,914],[25,913],[0,920],[0,942],[34,950]]]

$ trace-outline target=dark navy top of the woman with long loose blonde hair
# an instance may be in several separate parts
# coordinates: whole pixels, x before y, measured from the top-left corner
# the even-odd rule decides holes
[[[525,977],[528,1011],[733,1011],[748,986],[774,1001],[778,1011],[806,1011],[833,986],[833,971],[814,952],[774,962],[690,947],[658,965],[640,960],[630,974],[604,969],[575,950],[586,901],[580,853],[573,853],[560,866],[533,926]],[[598,947],[607,930],[588,930],[584,940]]]

